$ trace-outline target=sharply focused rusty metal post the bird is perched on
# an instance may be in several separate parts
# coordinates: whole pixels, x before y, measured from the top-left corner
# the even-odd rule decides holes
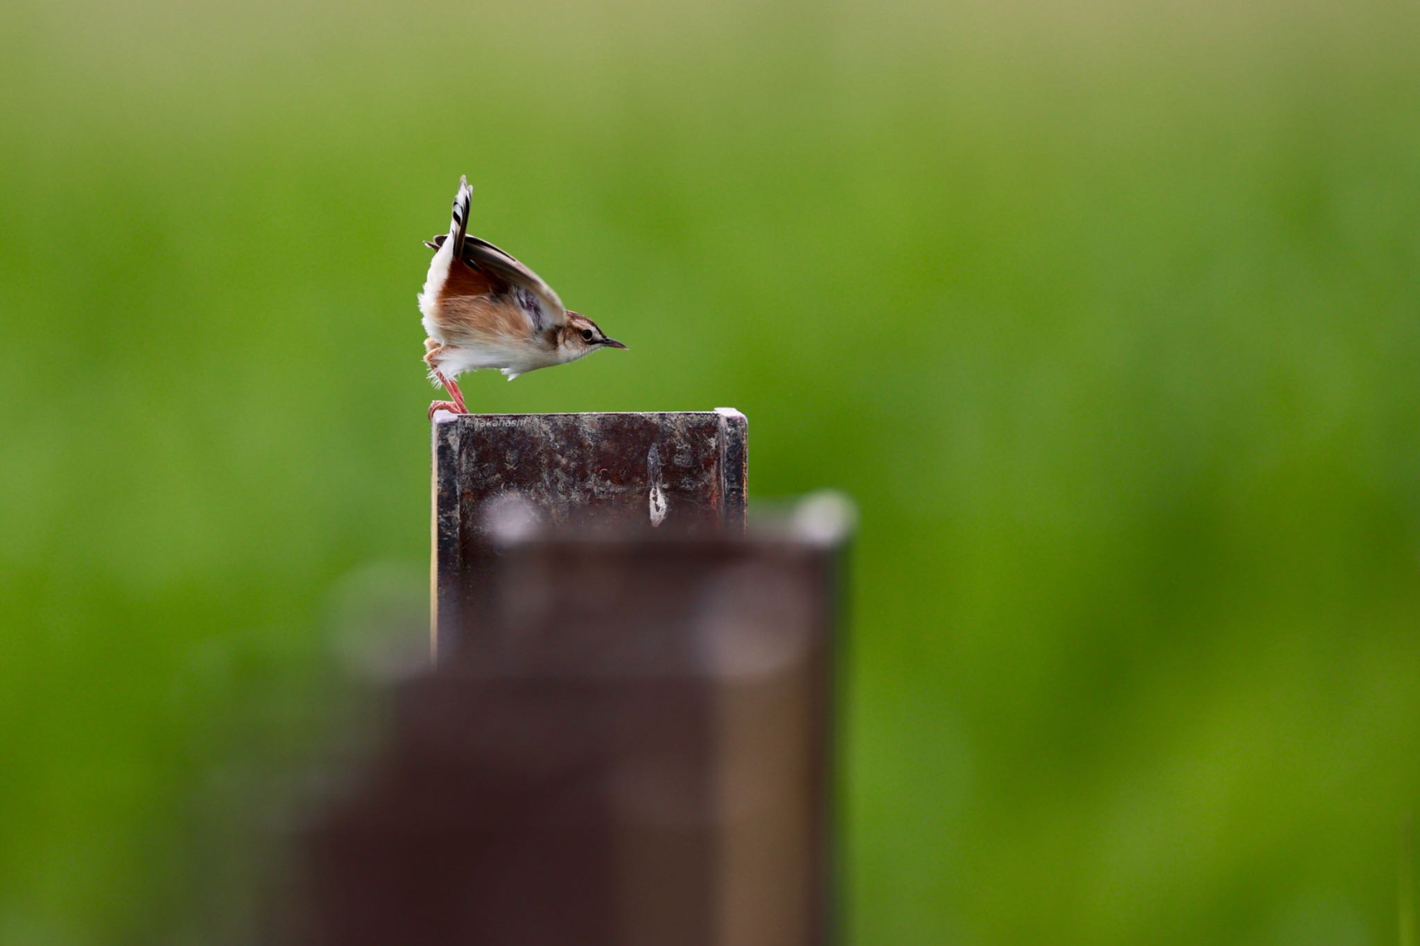
[[[733,408],[645,414],[466,414],[433,425],[437,654],[494,564],[486,513],[517,498],[544,525],[743,530],[747,424]]]

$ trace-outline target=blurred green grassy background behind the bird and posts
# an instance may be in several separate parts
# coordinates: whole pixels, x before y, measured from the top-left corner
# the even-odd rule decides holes
[[[352,625],[422,637],[460,173],[632,347],[474,410],[733,404],[755,495],[858,499],[849,942],[1403,939],[1417,37],[1387,0],[11,4],[0,940],[212,942],[233,773],[320,742]]]

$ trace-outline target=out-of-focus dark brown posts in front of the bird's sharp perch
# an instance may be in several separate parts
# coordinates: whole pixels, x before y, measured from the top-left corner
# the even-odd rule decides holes
[[[479,526],[460,647],[304,831],[294,940],[831,942],[842,501],[714,535],[535,512]]]

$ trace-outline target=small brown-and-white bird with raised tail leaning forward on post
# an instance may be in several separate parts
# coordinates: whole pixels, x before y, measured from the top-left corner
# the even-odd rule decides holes
[[[437,410],[467,414],[454,377],[480,367],[496,367],[511,382],[540,367],[564,365],[602,347],[626,347],[585,315],[562,308],[552,286],[487,240],[467,233],[469,179],[459,179],[453,220],[447,234],[426,240],[435,251],[425,289],[425,363],[429,380],[443,384],[450,401]]]

